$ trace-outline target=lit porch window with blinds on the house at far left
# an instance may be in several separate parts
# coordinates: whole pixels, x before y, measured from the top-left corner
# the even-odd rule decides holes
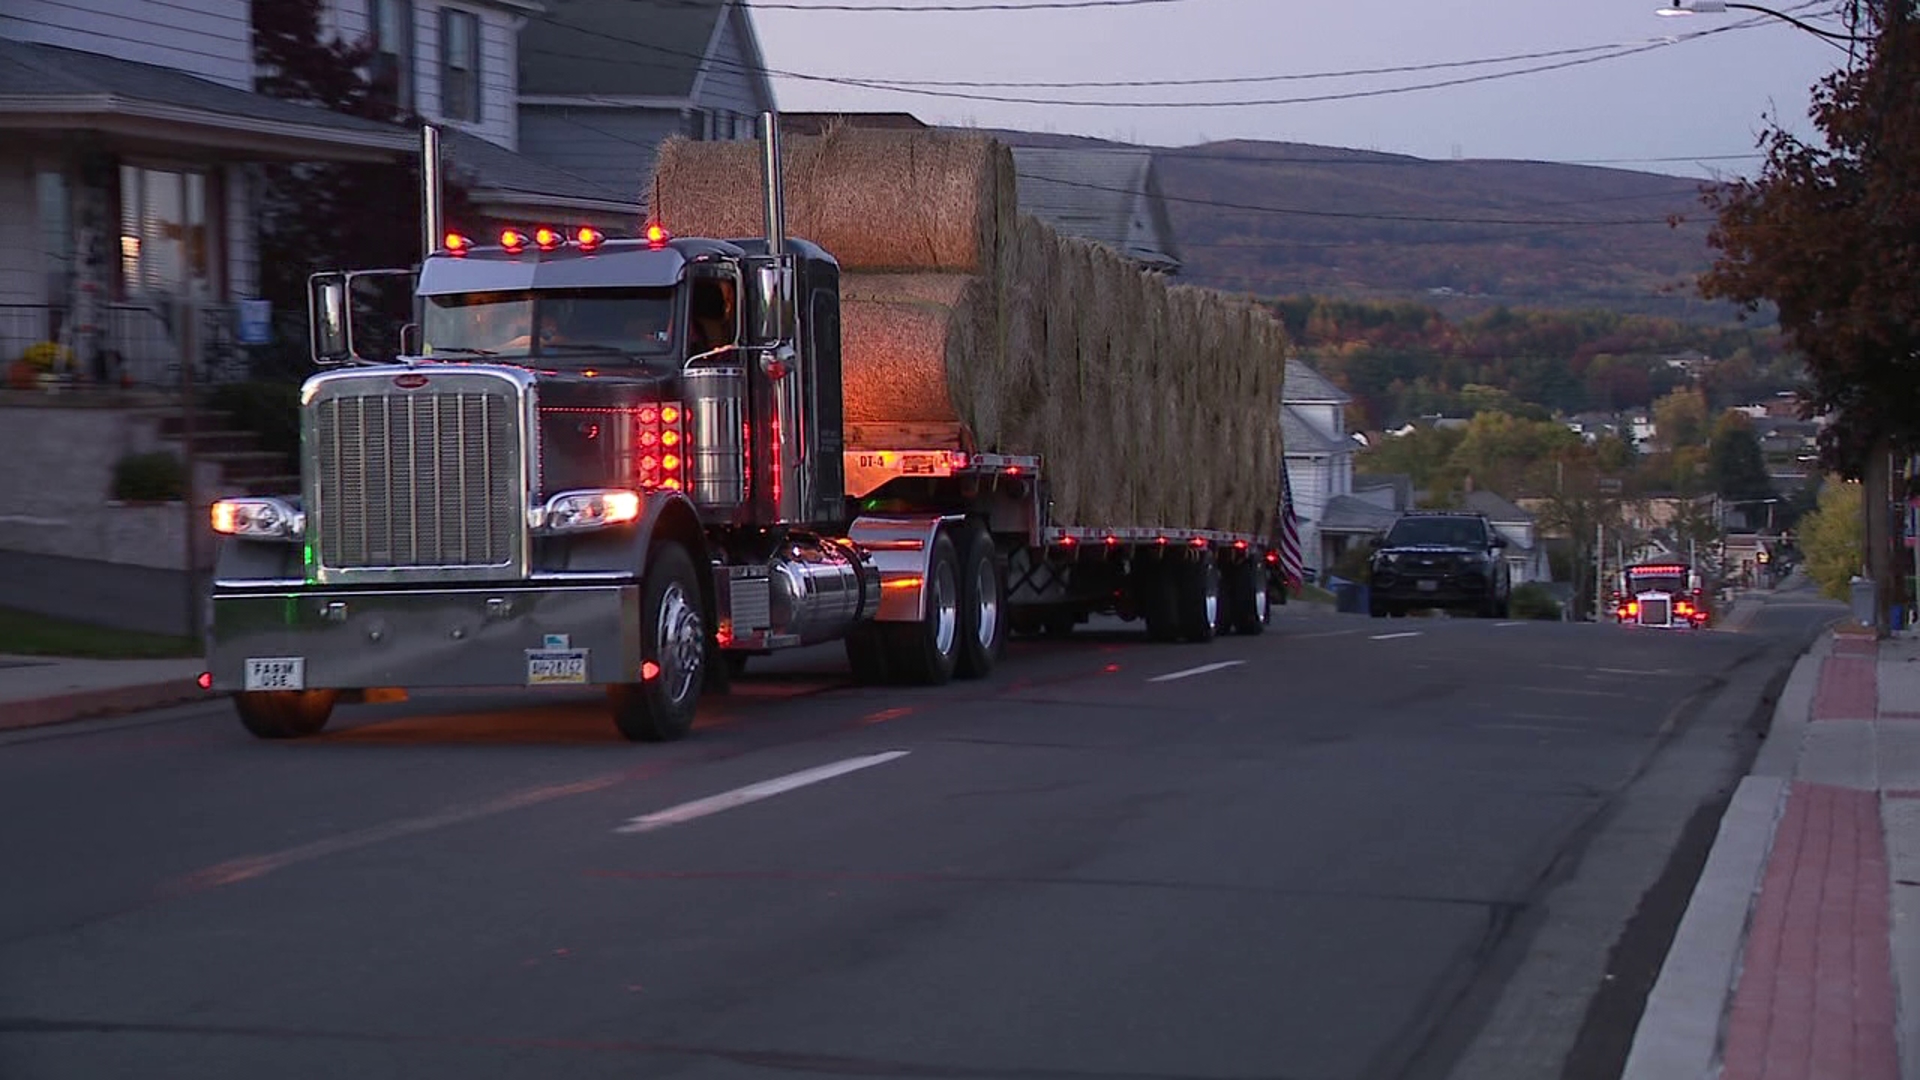
[[[129,296],[213,290],[205,173],[121,165],[121,288]]]

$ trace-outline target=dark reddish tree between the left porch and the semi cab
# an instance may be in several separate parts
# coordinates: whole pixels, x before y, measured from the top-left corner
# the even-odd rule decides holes
[[[367,75],[372,46],[323,38],[321,12],[323,0],[252,0],[253,88],[376,123],[417,123],[392,77]],[[415,160],[265,165],[259,181],[261,296],[280,317],[282,342],[305,342],[309,275],[420,259]],[[451,177],[445,188],[449,219],[461,219],[465,190]]]

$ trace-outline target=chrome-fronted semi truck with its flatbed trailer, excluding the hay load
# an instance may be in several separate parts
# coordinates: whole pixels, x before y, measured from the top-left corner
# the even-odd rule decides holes
[[[422,129],[420,265],[309,281],[301,490],[211,507],[202,682],[250,732],[419,688],[599,686],[626,738],[662,742],[780,650],[843,642],[858,680],[945,684],[989,675],[1010,630],[1096,613],[1169,642],[1267,626],[1271,536],[1054,521],[1035,455],[845,425],[839,265],[785,234],[760,119],[766,234],[745,238],[476,242],[445,227]],[[394,275],[413,323],[376,361],[353,296]]]

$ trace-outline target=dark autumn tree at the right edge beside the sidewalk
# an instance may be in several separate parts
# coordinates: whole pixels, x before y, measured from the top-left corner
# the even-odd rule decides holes
[[[1864,61],[1814,86],[1824,146],[1774,125],[1751,181],[1705,192],[1720,254],[1701,277],[1709,298],[1780,311],[1807,359],[1807,415],[1832,413],[1826,465],[1860,479],[1866,563],[1878,582],[1876,625],[1889,630],[1895,452],[1920,446],[1920,25],[1912,0],[1870,0]]]

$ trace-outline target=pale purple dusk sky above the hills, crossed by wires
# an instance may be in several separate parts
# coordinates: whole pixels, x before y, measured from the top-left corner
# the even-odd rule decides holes
[[[1405,94],[1233,108],[1037,106],[774,79],[783,110],[912,111],[931,123],[1096,135],[1156,146],[1267,138],[1413,154],[1620,161],[1751,173],[1761,117],[1807,135],[1809,88],[1843,65],[1834,44],[1770,17],[1659,17],[1665,0],[1133,0],[1041,12],[831,12],[820,6],[977,6],[989,0],[780,0],[755,4],[776,71],[868,81],[1162,81],[1269,77],[1594,52],[1392,75],[1217,86],[945,92],[1114,102],[1246,102],[1380,90],[1599,58],[1557,71]],[[1033,4],[1062,0],[991,0]],[[1085,0],[1081,0],[1085,2]],[[801,10],[808,8],[808,10]],[[1780,4],[1826,19],[1834,4]],[[1747,27],[1745,23],[1755,23]],[[1824,21],[1828,29],[1841,29]],[[1703,31],[1724,31],[1693,37]],[[1613,56],[1661,38],[1680,38]],[[1674,161],[1640,161],[1678,158]]]

